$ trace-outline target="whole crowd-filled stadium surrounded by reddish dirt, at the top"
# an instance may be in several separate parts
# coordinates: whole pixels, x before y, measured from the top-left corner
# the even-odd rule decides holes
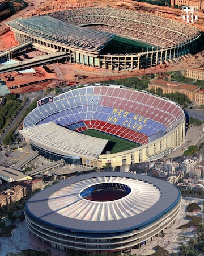
[[[45,52],[67,53],[69,63],[112,71],[176,63],[196,51],[201,36],[188,24],[111,7],[71,9],[6,24],[20,43],[32,41]]]

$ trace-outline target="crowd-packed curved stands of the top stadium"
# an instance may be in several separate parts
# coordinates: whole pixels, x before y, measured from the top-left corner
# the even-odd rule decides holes
[[[150,42],[159,47],[185,43],[200,34],[199,30],[185,23],[114,8],[74,9],[48,15],[67,23],[93,27],[95,30],[114,31],[114,34],[122,36],[131,35],[131,38]]]

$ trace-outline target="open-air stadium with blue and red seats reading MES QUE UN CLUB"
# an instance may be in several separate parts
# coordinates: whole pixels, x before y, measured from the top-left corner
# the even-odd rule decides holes
[[[40,100],[19,132],[46,158],[96,168],[108,163],[113,169],[129,170],[132,164],[151,162],[180,147],[185,114],[175,102],[145,91],[84,85]],[[116,142],[110,143],[107,135],[122,140],[116,151],[112,151]],[[125,147],[127,143],[132,144]]]

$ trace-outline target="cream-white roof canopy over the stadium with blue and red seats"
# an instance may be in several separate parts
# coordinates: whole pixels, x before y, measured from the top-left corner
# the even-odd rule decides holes
[[[34,144],[47,148],[49,151],[96,160],[108,143],[107,139],[76,133],[53,122],[26,127],[19,133]]]

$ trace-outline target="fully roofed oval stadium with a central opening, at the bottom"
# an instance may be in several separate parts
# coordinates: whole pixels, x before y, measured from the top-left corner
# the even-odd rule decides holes
[[[31,233],[54,249],[122,255],[171,226],[181,200],[179,189],[150,176],[94,172],[37,193],[24,213]]]

